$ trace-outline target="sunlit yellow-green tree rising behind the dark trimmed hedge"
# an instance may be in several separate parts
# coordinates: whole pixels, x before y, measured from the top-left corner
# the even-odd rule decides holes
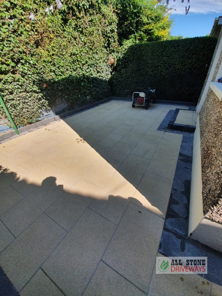
[[[157,0],[111,0],[118,17],[120,44],[124,40],[147,42],[165,40],[173,20],[171,9]]]

